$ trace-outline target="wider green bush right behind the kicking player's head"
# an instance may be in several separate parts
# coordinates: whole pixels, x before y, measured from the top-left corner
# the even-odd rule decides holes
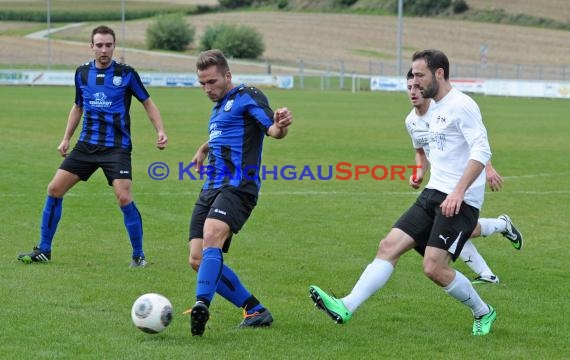
[[[200,50],[220,49],[227,57],[256,59],[265,51],[263,36],[249,26],[217,24],[206,28]]]

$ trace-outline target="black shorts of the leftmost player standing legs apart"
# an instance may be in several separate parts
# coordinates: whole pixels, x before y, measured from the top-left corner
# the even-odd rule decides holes
[[[75,145],[59,168],[79,176],[83,181],[87,181],[97,169],[101,168],[110,186],[115,179],[132,180],[130,150],[93,145],[83,141]]]

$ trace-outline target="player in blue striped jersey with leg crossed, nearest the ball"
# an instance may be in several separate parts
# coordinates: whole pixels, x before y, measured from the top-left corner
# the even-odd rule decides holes
[[[189,261],[198,272],[196,304],[188,311],[190,328],[192,335],[204,333],[216,292],[243,308],[240,327],[269,326],[271,313],[224,264],[222,252],[228,251],[232,234],[242,228],[257,203],[265,136],[285,137],[293,118],[287,108],[273,111],[259,89],[234,86],[221,51],[201,53],[196,68],[204,92],[215,105],[209,140],[192,159],[205,182],[190,221]]]

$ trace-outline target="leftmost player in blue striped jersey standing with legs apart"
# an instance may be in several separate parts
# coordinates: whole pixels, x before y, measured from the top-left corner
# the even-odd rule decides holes
[[[146,265],[141,215],[131,195],[131,116],[134,96],[142,103],[157,132],[156,146],[162,150],[168,138],[157,106],[138,73],[113,60],[115,32],[98,26],[91,33],[95,59],[75,72],[75,103],[58,151],[65,158],[48,185],[42,215],[40,241],[30,253],[20,254],[24,263],[51,260],[52,241],[61,218],[63,197],[80,180],[87,181],[99,168],[113,187],[124,215],[132,251],[132,267]],[[83,117],[79,140],[68,154],[71,138]]]

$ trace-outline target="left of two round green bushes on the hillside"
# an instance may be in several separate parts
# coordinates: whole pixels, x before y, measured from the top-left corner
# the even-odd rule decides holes
[[[195,29],[182,14],[159,15],[146,29],[149,49],[182,51],[194,40]]]

